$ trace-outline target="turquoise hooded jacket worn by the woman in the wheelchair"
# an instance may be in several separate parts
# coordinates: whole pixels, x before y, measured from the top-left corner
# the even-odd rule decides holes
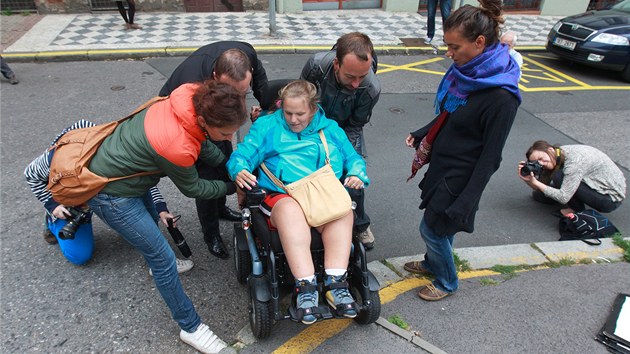
[[[326,118],[321,107],[300,133],[291,131],[282,110],[258,118],[227,162],[228,173],[234,180],[240,171],[253,172],[265,162],[284,184],[306,177],[326,163],[326,150],[319,137],[322,129],[337,178],[356,176],[367,186],[370,179],[365,161],[354,150],[343,129]],[[258,173],[258,185],[270,192],[284,193],[262,170]]]

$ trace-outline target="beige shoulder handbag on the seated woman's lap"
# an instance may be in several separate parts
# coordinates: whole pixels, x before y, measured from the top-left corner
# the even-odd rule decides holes
[[[285,186],[282,181],[269,171],[264,162],[260,165],[265,174],[278,187],[282,188],[300,204],[306,221],[313,227],[340,219],[352,211],[350,194],[335,176],[335,172],[330,165],[328,144],[326,143],[324,132],[320,130],[319,136],[324,143],[324,150],[326,150],[326,164],[298,181]]]

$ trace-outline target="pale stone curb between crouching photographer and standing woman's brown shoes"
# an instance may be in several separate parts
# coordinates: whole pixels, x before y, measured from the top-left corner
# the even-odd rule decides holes
[[[630,237],[625,237],[630,241]],[[468,262],[474,270],[489,269],[496,265],[537,266],[570,259],[575,262],[623,261],[623,249],[617,247],[611,238],[601,239],[599,246],[589,246],[582,241],[553,241],[532,244],[505,246],[469,247],[455,249],[461,260]],[[394,257],[372,261],[368,268],[379,281],[381,288],[415,276],[403,269],[410,261],[423,259],[423,254]]]

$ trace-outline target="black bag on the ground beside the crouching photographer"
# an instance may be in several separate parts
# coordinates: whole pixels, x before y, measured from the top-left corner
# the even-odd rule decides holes
[[[619,232],[607,217],[592,209],[563,216],[558,230],[560,241],[582,240],[592,246],[601,245],[600,238]]]

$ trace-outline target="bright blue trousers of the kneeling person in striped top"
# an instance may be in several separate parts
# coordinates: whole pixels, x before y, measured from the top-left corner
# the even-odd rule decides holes
[[[46,216],[48,230],[55,235],[61,253],[68,261],[76,265],[83,265],[92,258],[94,253],[94,234],[92,233],[92,223],[81,224],[77,228],[73,239],[62,240],[59,238],[59,231],[68,223],[68,220],[57,219],[54,222]]]

